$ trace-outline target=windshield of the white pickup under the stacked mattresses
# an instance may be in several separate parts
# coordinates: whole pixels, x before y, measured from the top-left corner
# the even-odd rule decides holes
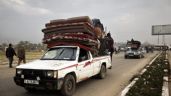
[[[59,47],[48,50],[41,60],[75,60],[76,48]]]

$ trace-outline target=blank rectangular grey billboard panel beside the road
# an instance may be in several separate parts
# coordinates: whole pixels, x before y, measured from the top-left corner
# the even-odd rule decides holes
[[[153,25],[152,35],[171,35],[171,24],[168,25]]]

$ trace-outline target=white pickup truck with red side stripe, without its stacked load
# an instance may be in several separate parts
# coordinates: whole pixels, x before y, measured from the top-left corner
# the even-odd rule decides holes
[[[71,96],[76,83],[92,76],[103,79],[111,68],[109,55],[93,57],[78,46],[56,46],[40,60],[17,66],[14,81],[29,92],[40,88],[61,90],[63,95]]]

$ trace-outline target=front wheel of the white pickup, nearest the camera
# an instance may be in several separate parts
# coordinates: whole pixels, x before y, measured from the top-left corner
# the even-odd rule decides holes
[[[73,75],[68,74],[64,78],[64,83],[61,89],[61,93],[64,96],[71,96],[74,94],[76,88],[76,81]]]

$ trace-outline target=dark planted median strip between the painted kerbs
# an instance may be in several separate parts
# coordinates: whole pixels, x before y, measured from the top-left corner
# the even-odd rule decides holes
[[[163,52],[146,71],[138,76],[137,82],[128,91],[126,96],[161,96],[163,77],[169,75],[169,62],[165,61]],[[167,64],[166,64],[167,63]]]

